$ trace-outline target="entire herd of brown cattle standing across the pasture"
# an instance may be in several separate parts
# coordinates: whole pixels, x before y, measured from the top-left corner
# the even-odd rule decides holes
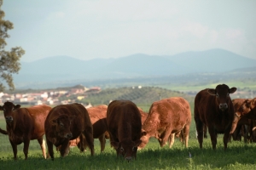
[[[224,133],[224,149],[231,135],[234,140],[241,140],[241,132],[245,132],[245,141],[256,142],[256,98],[231,100],[230,94],[235,92],[236,88],[219,84],[215,89],[207,88],[196,94],[194,119],[200,148],[207,130],[213,150],[216,149],[218,133]],[[189,102],[181,97],[155,101],[148,113],[129,100],[113,100],[109,105],[87,109],[77,103],[53,108],[48,105],[20,108],[20,105],[7,101],[0,105],[0,111],[3,111],[6,121],[6,130],[0,128],[0,133],[9,135],[15,159],[17,144],[21,143],[24,143],[27,158],[32,139],[38,139],[44,158],[50,156],[52,160],[54,145],[61,156],[67,156],[73,145],[81,151],[88,147],[93,156],[94,139],[100,140],[101,151],[106,139],[110,139],[117,156],[123,156],[127,161],[136,159],[137,150],[143,149],[151,137],[158,139],[161,147],[167,142],[172,147],[174,138],[180,137],[188,147],[191,112]]]

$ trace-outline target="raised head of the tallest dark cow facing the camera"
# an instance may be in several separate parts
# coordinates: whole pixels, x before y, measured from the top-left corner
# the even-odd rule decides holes
[[[221,111],[228,109],[228,105],[230,103],[230,94],[235,92],[236,88],[229,88],[225,84],[219,84],[215,89],[208,89],[208,94],[216,96],[216,104]]]

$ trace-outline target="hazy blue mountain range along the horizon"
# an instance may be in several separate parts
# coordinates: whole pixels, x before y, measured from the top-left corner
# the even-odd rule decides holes
[[[224,49],[175,55],[132,54],[117,59],[81,60],[55,56],[20,64],[19,74],[14,75],[16,88],[37,88],[39,83],[256,71],[256,59],[248,59]]]

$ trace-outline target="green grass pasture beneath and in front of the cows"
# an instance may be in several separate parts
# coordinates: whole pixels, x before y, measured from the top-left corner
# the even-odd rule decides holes
[[[3,114],[3,113],[1,113]],[[5,128],[3,115],[0,127]],[[77,147],[68,156],[61,158],[55,151],[55,161],[44,160],[37,140],[32,140],[28,159],[25,161],[23,144],[18,146],[18,160],[13,160],[13,151],[8,136],[0,134],[0,169],[255,169],[256,144],[232,141],[224,151],[223,135],[218,135],[217,150],[212,150],[211,140],[204,139],[203,149],[199,149],[195,139],[195,121],[192,120],[189,148],[175,140],[172,149],[160,148],[156,139],[150,139],[143,150],[138,150],[136,161],[123,161],[107,140],[106,148],[100,153],[100,144],[95,139],[95,156],[90,151],[80,153]],[[189,157],[189,153],[191,157]]]

